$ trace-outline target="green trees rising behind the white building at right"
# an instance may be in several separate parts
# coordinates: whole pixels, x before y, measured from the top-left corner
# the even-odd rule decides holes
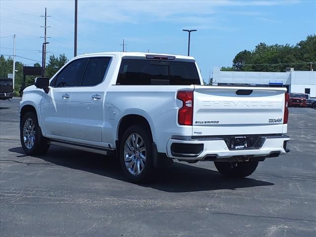
[[[310,62],[316,64],[316,35],[307,36],[295,46],[289,44],[267,45],[259,43],[254,50],[243,50],[233,60],[231,67],[222,71],[284,72],[285,68],[310,70]]]

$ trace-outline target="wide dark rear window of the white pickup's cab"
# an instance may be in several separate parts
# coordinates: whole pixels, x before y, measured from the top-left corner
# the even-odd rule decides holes
[[[194,62],[122,59],[117,84],[199,85],[200,80]]]

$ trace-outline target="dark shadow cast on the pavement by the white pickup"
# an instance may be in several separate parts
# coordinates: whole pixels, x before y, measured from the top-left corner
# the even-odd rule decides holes
[[[1,162],[21,163],[35,166],[60,165],[71,169],[82,170],[109,178],[126,181],[122,175],[119,161],[116,157],[105,157],[98,154],[51,146],[46,155],[36,156],[42,160],[32,162],[32,157],[24,154],[22,147],[9,149],[19,154],[16,160],[1,160]],[[20,158],[30,158],[30,162],[19,161]],[[43,162],[46,161],[46,162]],[[205,161],[207,162],[207,161]],[[127,181],[126,181],[127,182]],[[229,179],[222,177],[217,171],[200,168],[189,164],[174,162],[170,167],[159,169],[157,180],[150,184],[137,184],[164,192],[195,192],[238,188],[270,186],[273,183],[252,178]]]

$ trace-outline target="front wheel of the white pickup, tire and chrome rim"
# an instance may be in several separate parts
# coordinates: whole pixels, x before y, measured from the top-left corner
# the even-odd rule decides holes
[[[20,140],[23,151],[29,155],[43,155],[49,145],[40,131],[38,118],[35,112],[26,113],[21,120]]]

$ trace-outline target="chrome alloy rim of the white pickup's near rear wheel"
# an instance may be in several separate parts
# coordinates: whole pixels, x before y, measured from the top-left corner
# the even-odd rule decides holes
[[[146,163],[146,147],[143,138],[132,133],[124,144],[125,166],[132,175],[139,175]]]

